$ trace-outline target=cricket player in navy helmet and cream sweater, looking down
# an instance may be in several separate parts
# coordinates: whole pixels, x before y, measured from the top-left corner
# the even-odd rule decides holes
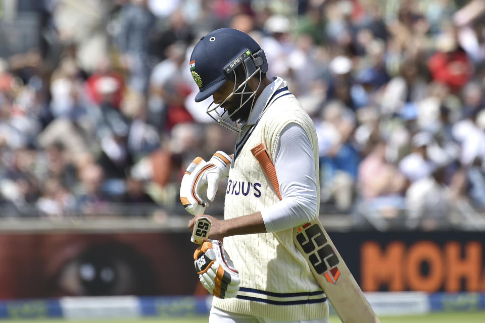
[[[238,133],[230,154],[195,158],[180,189],[182,203],[195,215],[190,230],[207,238],[194,259],[202,284],[215,296],[209,322],[328,322],[327,296],[293,235],[319,213],[312,120],[285,80],[266,77],[264,52],[246,33],[222,28],[202,37],[187,68],[199,86],[195,100],[212,96],[207,113]],[[279,189],[251,152],[260,144]],[[218,220],[203,213],[223,177],[224,220]],[[202,217],[207,223],[194,228]]]

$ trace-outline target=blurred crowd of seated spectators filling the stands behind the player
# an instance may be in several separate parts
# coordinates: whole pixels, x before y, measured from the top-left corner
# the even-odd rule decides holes
[[[39,41],[0,61],[3,214],[179,207],[191,159],[233,151],[188,68],[221,27],[253,36],[314,120],[322,213],[439,229],[485,211],[483,1],[17,5],[3,21],[37,14]]]

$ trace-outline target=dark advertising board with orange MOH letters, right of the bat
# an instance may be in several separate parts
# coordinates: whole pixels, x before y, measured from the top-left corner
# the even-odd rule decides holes
[[[485,291],[485,232],[329,235],[363,291]]]

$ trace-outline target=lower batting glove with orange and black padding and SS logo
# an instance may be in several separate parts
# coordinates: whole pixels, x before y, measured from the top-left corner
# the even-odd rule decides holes
[[[202,285],[218,298],[236,297],[239,272],[219,240],[207,240],[193,253]]]

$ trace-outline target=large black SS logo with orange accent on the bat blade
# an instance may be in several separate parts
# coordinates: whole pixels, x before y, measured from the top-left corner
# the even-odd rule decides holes
[[[320,226],[307,223],[298,227],[299,233],[296,239],[303,251],[308,254],[308,259],[313,268],[319,275],[324,275],[328,282],[335,284],[340,271],[336,265],[340,262],[333,251],[332,246],[328,244],[325,235]]]

